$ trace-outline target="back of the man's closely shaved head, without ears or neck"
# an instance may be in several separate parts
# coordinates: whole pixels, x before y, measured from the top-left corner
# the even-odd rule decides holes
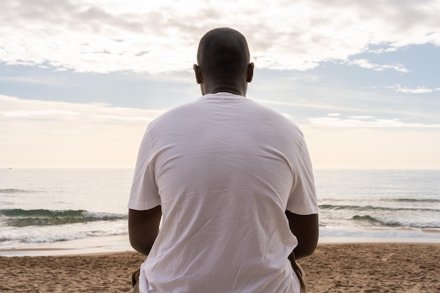
[[[213,78],[237,77],[250,62],[247,41],[240,32],[228,27],[210,30],[200,39],[197,62]]]

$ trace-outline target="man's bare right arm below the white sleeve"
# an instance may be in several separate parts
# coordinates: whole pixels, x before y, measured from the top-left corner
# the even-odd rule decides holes
[[[297,237],[298,246],[293,250],[295,259],[302,259],[313,254],[318,244],[318,214],[299,215],[285,211],[289,227]]]

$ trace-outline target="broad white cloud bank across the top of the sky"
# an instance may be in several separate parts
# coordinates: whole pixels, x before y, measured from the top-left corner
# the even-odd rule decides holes
[[[245,34],[258,67],[308,70],[370,44],[440,46],[439,12],[434,0],[4,0],[0,62],[77,72],[190,70],[202,34],[230,26]]]

